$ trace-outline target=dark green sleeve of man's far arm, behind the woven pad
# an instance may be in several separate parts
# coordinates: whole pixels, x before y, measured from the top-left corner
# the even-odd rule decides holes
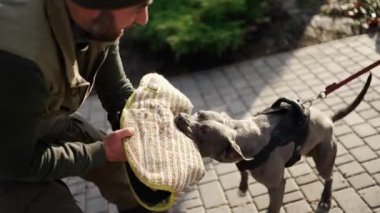
[[[107,57],[97,73],[95,90],[108,113],[107,118],[112,129],[119,129],[120,113],[134,87],[126,77],[116,43],[109,48]]]

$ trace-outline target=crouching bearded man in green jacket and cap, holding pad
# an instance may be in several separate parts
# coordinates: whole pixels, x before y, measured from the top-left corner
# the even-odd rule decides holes
[[[119,113],[133,87],[124,29],[148,21],[149,0],[0,0],[0,212],[82,212],[61,178],[94,182],[120,212],[132,196]],[[114,132],[75,111],[95,88]]]

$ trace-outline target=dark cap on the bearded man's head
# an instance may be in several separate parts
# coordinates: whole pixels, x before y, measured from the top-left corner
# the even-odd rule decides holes
[[[50,0],[52,1],[52,0]],[[141,3],[148,3],[149,0],[72,0],[78,5],[88,9],[120,9],[134,6]]]

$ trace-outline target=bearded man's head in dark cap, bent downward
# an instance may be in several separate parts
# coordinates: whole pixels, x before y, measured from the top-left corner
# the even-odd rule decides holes
[[[72,19],[90,39],[115,41],[124,29],[148,22],[151,0],[66,0]]]

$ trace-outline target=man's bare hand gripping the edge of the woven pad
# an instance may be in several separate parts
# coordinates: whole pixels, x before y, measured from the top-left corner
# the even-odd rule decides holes
[[[110,133],[104,138],[104,150],[106,152],[106,158],[108,161],[127,161],[127,157],[125,156],[124,148],[122,146],[122,139],[131,137],[133,134],[134,131],[132,129],[123,128]]]

